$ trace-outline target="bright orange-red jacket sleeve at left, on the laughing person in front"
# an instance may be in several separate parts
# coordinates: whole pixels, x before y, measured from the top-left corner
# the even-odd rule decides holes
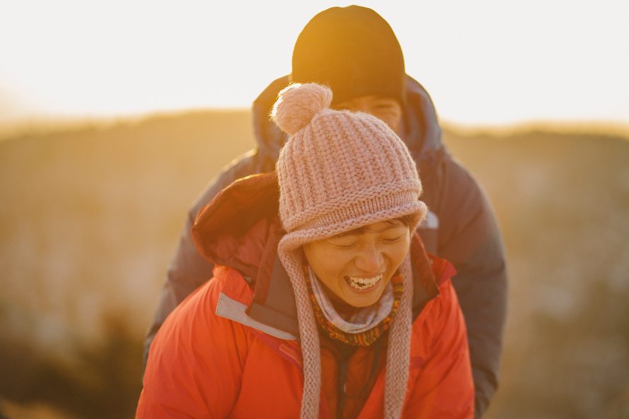
[[[222,419],[230,413],[252,337],[214,314],[220,285],[212,280],[199,288],[155,336],[136,419]]]

